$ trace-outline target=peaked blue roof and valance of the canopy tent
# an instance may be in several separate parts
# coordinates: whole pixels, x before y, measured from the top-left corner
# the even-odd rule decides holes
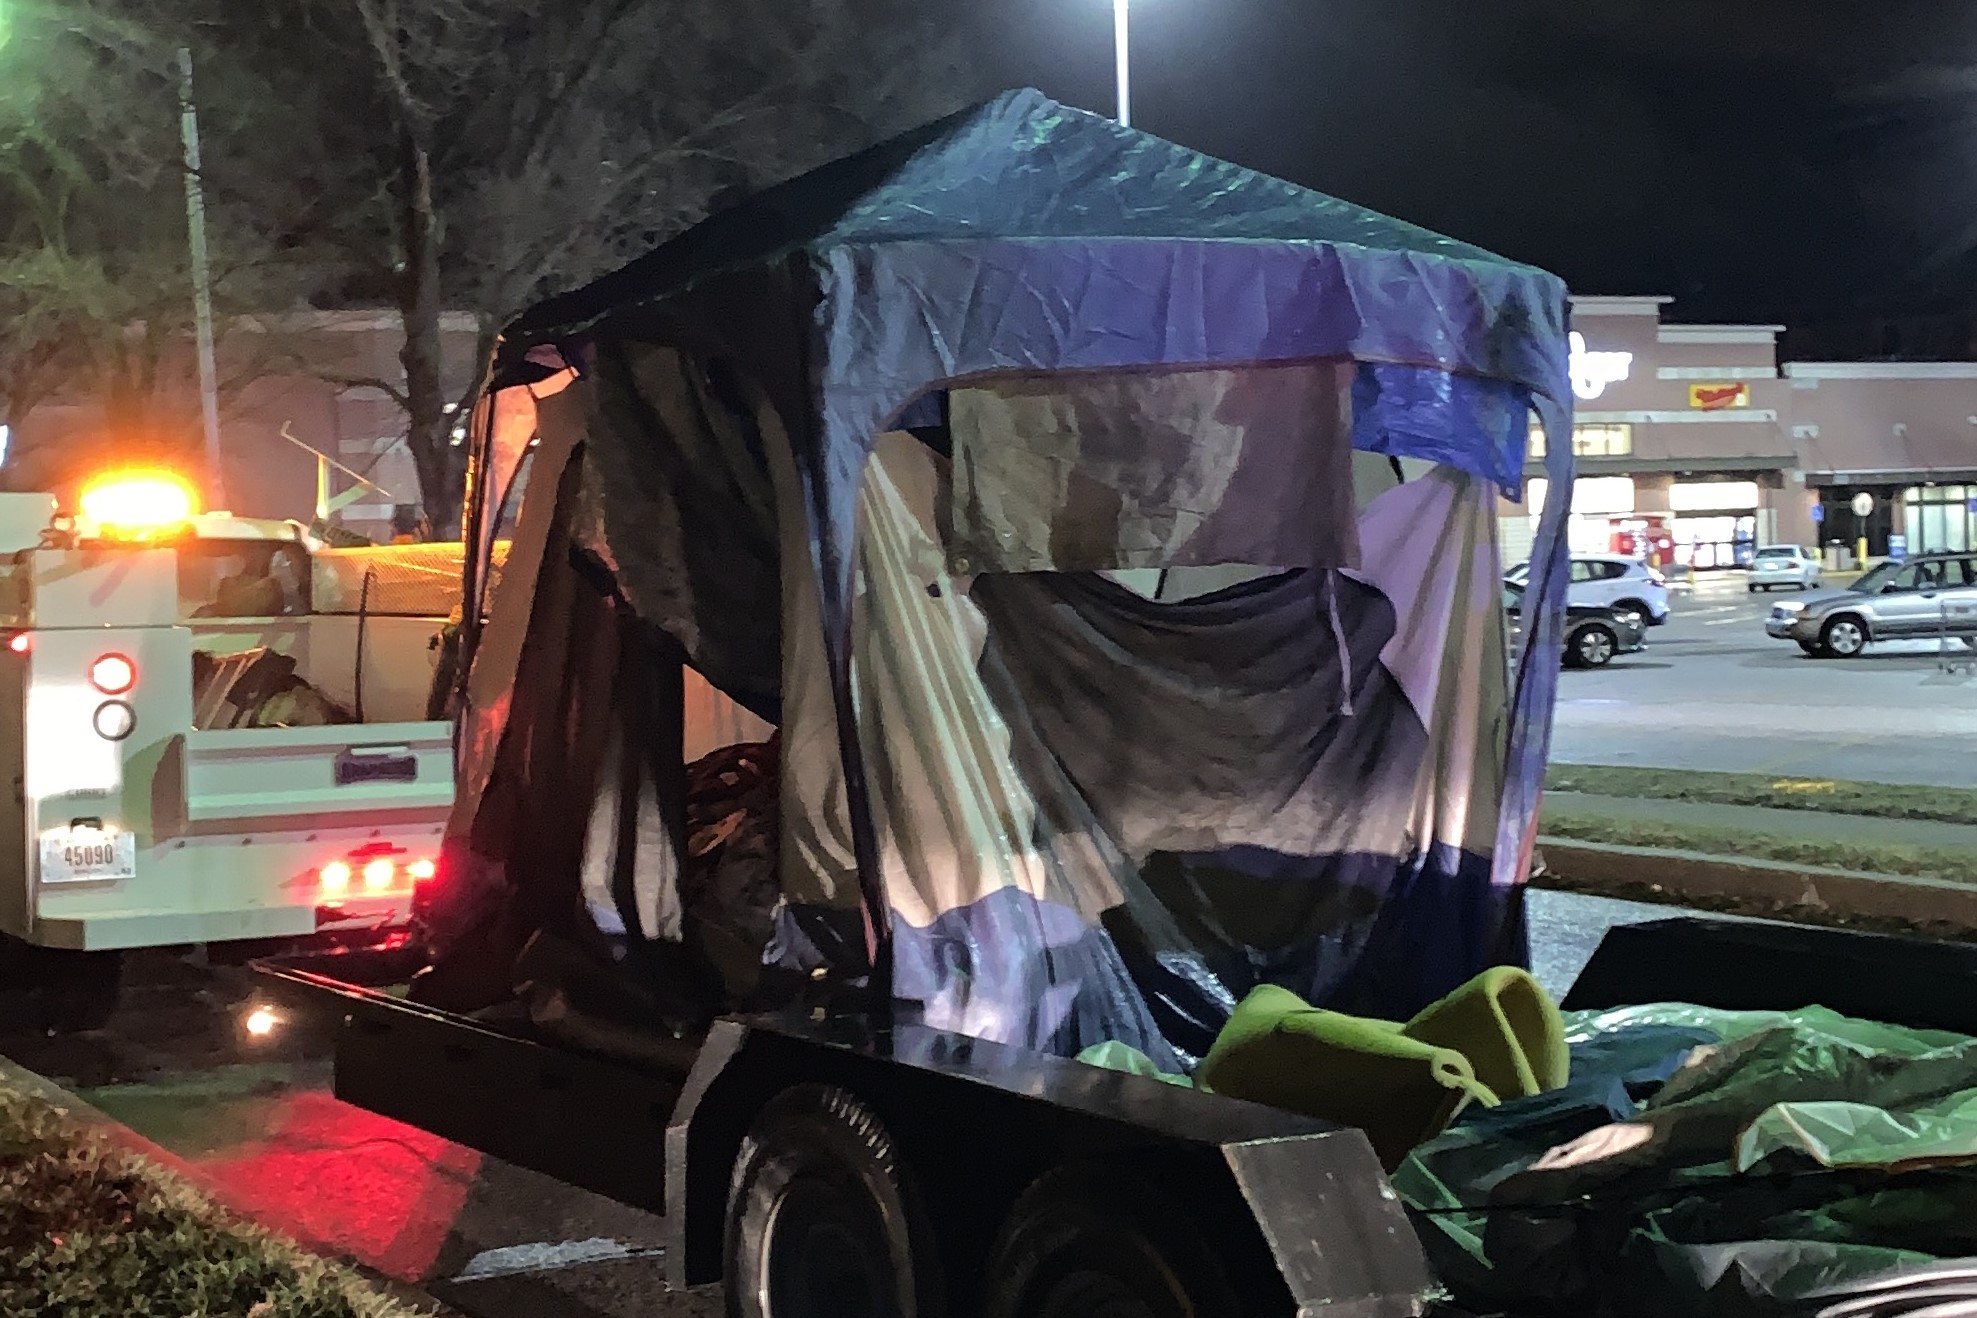
[[[793,267],[809,275],[797,283],[824,336],[813,377],[826,393],[870,391],[874,373],[896,395],[985,370],[1342,356],[1570,399],[1554,275],[1038,91],[769,188],[538,304],[508,328],[504,362],[637,334],[641,314],[710,281]],[[913,379],[923,370],[945,375]],[[1461,464],[1514,488],[1522,415],[1512,429],[1508,464]],[[1421,456],[1453,460],[1447,443]]]

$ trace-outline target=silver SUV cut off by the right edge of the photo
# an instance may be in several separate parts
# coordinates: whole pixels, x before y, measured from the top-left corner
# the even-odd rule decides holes
[[[1839,591],[1813,591],[1771,605],[1767,636],[1797,640],[1807,654],[1852,658],[1872,640],[1928,640],[1963,634],[1977,609],[1977,555],[1922,553],[1882,563]]]

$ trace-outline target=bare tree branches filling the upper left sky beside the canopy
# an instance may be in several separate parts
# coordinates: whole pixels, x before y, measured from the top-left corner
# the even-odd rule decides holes
[[[474,401],[463,368],[480,370],[500,324],[680,231],[718,192],[985,91],[927,0],[0,4],[38,16],[36,49],[63,69],[0,85],[0,417],[49,389],[136,409],[182,383],[172,51],[190,43],[223,314],[304,292],[387,300],[403,377],[356,362],[318,373],[405,413],[441,528],[459,502],[453,411]],[[463,310],[465,362],[443,328]],[[132,324],[144,330],[125,336]],[[237,346],[227,387],[269,350]]]

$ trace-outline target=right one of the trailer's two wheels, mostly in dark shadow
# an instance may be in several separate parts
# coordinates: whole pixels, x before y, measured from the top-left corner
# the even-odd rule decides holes
[[[1010,1209],[987,1269],[987,1318],[1236,1318],[1188,1211],[1099,1166],[1050,1172]]]

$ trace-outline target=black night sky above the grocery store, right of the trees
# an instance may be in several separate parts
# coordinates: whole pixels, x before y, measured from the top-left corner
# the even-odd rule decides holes
[[[1111,113],[1109,0],[992,0]],[[1688,320],[1977,308],[1973,0],[1133,0],[1133,121]]]

